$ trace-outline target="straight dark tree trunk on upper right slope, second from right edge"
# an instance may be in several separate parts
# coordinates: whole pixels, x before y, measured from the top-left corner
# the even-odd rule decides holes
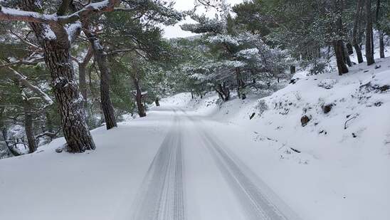
[[[371,16],[371,0],[365,0],[366,9],[366,58],[367,65],[370,66],[374,61],[374,47],[373,47],[373,31],[372,31],[372,16]]]

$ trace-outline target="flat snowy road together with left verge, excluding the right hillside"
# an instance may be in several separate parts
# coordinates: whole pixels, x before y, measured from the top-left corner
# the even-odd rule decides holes
[[[299,219],[286,204],[302,212],[270,189],[278,182],[265,184],[280,175],[273,172],[278,155],[237,125],[162,107],[92,134],[92,152],[58,154],[59,138],[1,159],[0,219]]]

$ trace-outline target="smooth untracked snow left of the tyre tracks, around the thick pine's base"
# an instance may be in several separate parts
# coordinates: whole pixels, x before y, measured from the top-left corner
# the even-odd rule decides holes
[[[34,154],[1,159],[0,219],[122,219],[171,125],[148,117],[93,130],[95,151],[58,154],[65,142],[58,138]]]

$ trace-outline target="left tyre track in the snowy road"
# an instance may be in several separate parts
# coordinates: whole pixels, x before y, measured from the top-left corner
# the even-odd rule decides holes
[[[169,130],[135,200],[134,220],[183,220],[184,189],[179,121]]]

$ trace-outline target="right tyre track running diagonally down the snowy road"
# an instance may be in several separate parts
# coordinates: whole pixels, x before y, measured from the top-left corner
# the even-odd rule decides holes
[[[189,119],[196,123],[194,119]],[[203,123],[202,123],[203,124]],[[245,215],[251,220],[298,220],[290,208],[272,192],[272,189],[241,162],[233,152],[228,152],[204,129],[198,129],[204,137],[206,148],[215,159],[226,182],[241,203]],[[259,185],[261,187],[259,187]]]

